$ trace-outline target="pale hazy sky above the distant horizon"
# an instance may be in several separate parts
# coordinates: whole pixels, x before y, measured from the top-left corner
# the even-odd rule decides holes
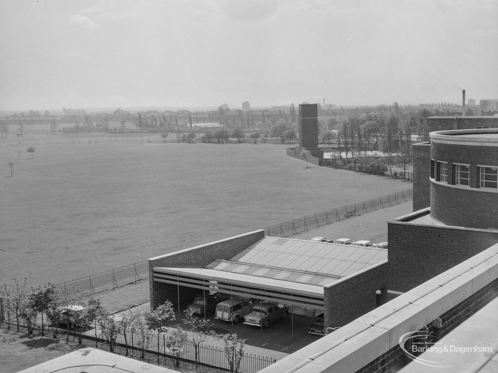
[[[498,98],[496,0],[0,0],[0,110]]]

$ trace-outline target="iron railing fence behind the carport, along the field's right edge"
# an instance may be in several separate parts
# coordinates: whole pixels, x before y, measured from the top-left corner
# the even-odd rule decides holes
[[[266,228],[265,234],[272,237],[288,237],[310,228],[330,224],[335,221],[347,219],[355,215],[361,215],[379,208],[392,206],[410,199],[413,199],[413,188],[269,226]]]

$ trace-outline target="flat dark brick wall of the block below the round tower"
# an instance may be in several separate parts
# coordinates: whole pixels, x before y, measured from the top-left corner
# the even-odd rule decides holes
[[[498,242],[484,229],[387,222],[389,290],[408,291]]]

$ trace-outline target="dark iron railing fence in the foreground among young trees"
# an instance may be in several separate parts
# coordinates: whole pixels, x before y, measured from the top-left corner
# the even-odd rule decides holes
[[[96,322],[83,330],[69,330],[67,328],[54,328],[49,325],[47,317],[44,316],[44,335],[59,339],[72,338],[73,341],[88,347],[98,348],[109,351],[109,344],[104,338],[102,331]],[[7,328],[17,328],[16,313],[6,302],[0,298],[0,324]],[[27,325],[22,317],[19,316],[19,328],[27,329]],[[41,313],[37,315],[34,335],[41,335]],[[150,334],[149,334],[150,333]],[[178,362],[184,368],[194,369],[200,367],[198,371],[213,372],[231,371],[229,361],[226,358],[224,342],[219,339],[211,338],[206,343],[198,345],[197,349],[190,340],[185,341],[179,346],[173,338],[167,335],[168,332],[161,332],[159,339],[157,332],[150,331],[147,338],[133,330],[120,333],[114,344],[114,352],[120,355],[129,356],[135,359],[143,359],[149,363],[166,367],[172,367]],[[67,335],[69,334],[69,336]],[[275,363],[276,359],[266,356],[244,353],[238,372],[255,373],[263,368]],[[186,365],[186,366],[185,366]]]

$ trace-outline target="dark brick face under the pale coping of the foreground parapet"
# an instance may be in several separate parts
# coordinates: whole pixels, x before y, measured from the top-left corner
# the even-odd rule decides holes
[[[478,292],[463,300],[455,307],[451,308],[442,315],[439,315],[443,321],[441,338],[450,333],[462,322],[471,317],[485,305],[490,303],[498,295],[498,279],[494,280]],[[396,345],[389,351],[374,359],[356,373],[390,373],[397,372],[412,360]],[[423,369],[423,366],[420,366]]]

